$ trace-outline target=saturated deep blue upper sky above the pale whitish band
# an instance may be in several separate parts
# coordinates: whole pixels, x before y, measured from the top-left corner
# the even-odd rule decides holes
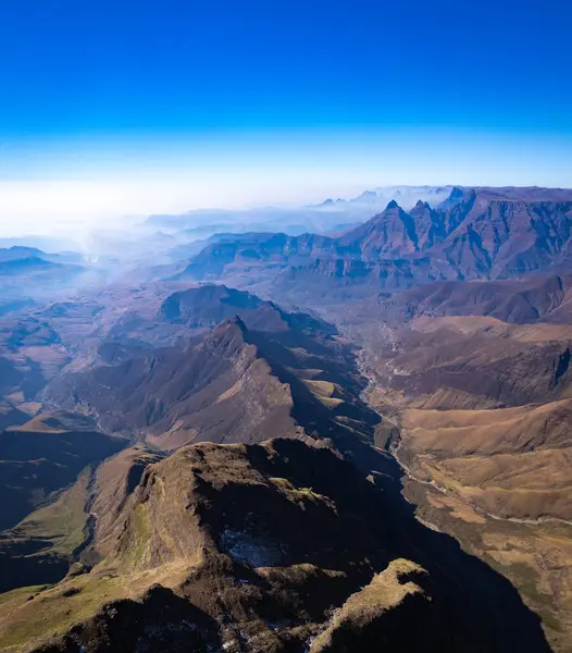
[[[569,0],[2,0],[0,132],[572,131]]]

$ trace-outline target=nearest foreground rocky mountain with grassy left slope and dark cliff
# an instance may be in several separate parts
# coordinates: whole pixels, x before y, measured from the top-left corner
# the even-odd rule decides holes
[[[396,518],[325,444],[183,447],[146,468],[89,574],[7,597],[0,641],[11,653],[518,644],[455,577],[401,559],[415,546]],[[537,627],[519,623],[531,650],[546,650]]]

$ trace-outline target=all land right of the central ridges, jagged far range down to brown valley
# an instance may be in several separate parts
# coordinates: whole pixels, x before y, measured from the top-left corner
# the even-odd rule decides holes
[[[225,242],[238,254],[208,271],[318,310],[363,347],[369,402],[389,424],[377,442],[396,451],[420,518],[507,575],[561,651],[572,637],[570,211],[567,190],[456,189],[440,207],[390,204],[335,242],[290,241],[272,266],[239,254],[268,251],[262,236]]]

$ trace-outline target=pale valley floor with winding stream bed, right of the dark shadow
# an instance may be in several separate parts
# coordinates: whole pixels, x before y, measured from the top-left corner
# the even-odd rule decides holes
[[[385,345],[394,348],[391,330],[380,332],[387,336]],[[513,517],[502,505],[499,505],[500,514],[495,514],[495,503],[483,501],[490,489],[482,490],[459,481],[439,464],[444,459],[443,451],[432,455],[423,448],[423,443],[415,441],[411,412],[415,414],[415,424],[431,417],[431,429],[435,427],[436,411],[408,407],[403,396],[380,374],[378,349],[372,350],[365,344],[360,350],[359,367],[369,381],[363,397],[382,418],[389,415],[386,421],[395,424],[389,436],[387,429],[378,434],[378,443],[398,463],[403,496],[415,506],[416,518],[438,532],[452,535],[467,552],[510,579],[524,602],[542,617],[554,650],[572,651],[572,520],[551,515]],[[443,421],[447,420],[448,412],[438,411]],[[482,411],[467,412],[476,416]],[[474,460],[473,466],[478,463]],[[537,473],[550,484],[548,469],[539,469]],[[493,490],[494,476],[490,475]],[[570,485],[565,485],[564,492],[569,496]],[[485,508],[487,505],[492,507]]]

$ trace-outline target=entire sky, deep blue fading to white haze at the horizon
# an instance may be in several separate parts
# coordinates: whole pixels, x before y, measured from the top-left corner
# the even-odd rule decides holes
[[[571,186],[571,24],[568,0],[2,0],[0,190]]]

